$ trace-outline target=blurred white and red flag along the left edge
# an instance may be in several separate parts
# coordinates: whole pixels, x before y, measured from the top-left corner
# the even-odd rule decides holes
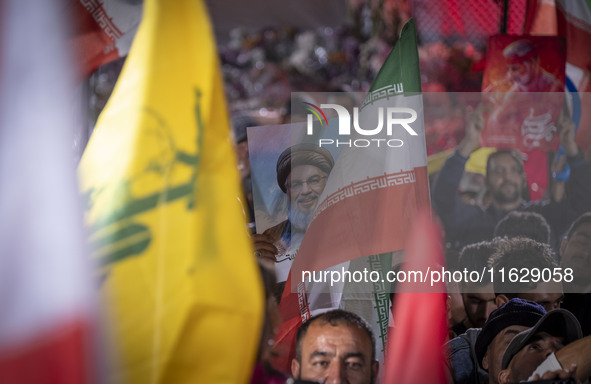
[[[2,384],[93,382],[93,278],[59,8],[11,0],[0,12]]]

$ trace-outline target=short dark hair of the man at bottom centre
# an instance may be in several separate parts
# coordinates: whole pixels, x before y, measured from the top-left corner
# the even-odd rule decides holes
[[[324,312],[316,315],[306,321],[298,329],[296,335],[296,360],[302,362],[302,339],[306,336],[308,328],[312,323],[321,322],[321,324],[330,324],[333,327],[339,325],[347,325],[363,330],[367,337],[371,340],[371,360],[376,359],[376,339],[369,324],[363,318],[353,312],[344,311],[342,309],[334,309],[332,311]]]

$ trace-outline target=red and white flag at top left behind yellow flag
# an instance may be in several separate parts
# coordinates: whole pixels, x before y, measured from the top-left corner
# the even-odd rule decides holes
[[[98,67],[126,56],[142,19],[141,1],[68,0],[75,22],[70,44],[87,78]]]

